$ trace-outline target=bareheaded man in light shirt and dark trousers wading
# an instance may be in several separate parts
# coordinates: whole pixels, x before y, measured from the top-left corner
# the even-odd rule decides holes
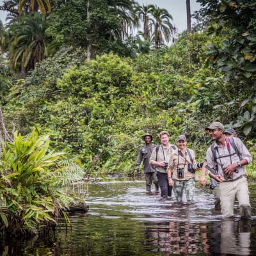
[[[161,189],[161,198],[167,199],[172,196],[172,187],[168,184],[167,167],[172,151],[176,148],[169,143],[170,134],[161,131],[159,134],[161,145],[154,148],[150,156],[150,164],[156,166],[157,179]]]

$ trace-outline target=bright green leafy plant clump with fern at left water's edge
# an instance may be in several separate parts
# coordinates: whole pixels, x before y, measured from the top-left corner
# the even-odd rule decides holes
[[[1,234],[36,232],[39,225],[56,225],[74,198],[68,184],[83,177],[83,170],[63,153],[49,150],[49,136],[33,131],[27,138],[17,132],[13,143],[4,143],[0,161]]]

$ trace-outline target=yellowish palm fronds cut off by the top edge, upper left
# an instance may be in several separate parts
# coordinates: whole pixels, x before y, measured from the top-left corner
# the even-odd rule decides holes
[[[25,10],[25,13],[38,12],[38,10],[40,10],[42,15],[45,16],[47,14],[46,9],[48,12],[51,12],[50,0],[19,0],[19,14],[21,14],[23,10]]]

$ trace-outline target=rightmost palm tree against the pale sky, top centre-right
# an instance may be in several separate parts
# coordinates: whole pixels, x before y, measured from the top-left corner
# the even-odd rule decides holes
[[[164,40],[170,42],[173,26],[170,20],[173,20],[172,15],[166,10],[155,6],[152,10],[154,22],[154,42],[156,48],[161,48]]]

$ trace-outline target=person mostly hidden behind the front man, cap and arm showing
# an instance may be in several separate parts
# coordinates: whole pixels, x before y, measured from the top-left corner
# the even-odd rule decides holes
[[[236,137],[236,131],[233,128],[228,128],[227,130],[225,130],[223,132],[223,134],[225,135],[225,137]],[[207,161],[205,160],[203,166],[202,166],[202,171],[201,171],[201,175],[200,175],[200,184],[205,186],[206,184],[206,179],[205,179],[205,173],[207,173],[206,170],[206,166],[207,165]],[[211,184],[210,184],[210,188],[212,189],[212,194],[214,195],[214,207],[216,211],[220,210],[220,182],[218,182],[217,180],[214,180],[211,177],[211,172],[209,173],[210,176],[210,180],[211,180]]]

